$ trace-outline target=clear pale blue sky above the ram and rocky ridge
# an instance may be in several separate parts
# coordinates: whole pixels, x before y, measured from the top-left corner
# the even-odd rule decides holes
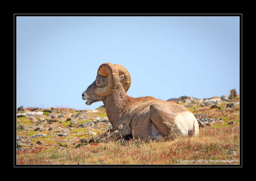
[[[239,94],[239,17],[17,17],[17,107],[88,106],[102,63],[131,74],[132,97]]]

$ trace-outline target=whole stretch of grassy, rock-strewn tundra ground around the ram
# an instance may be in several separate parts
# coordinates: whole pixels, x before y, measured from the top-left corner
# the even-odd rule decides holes
[[[211,101],[209,101],[211,100]],[[108,139],[81,142],[112,128],[106,107],[19,107],[16,119],[17,165],[31,164],[239,164],[239,95],[230,98],[172,98],[193,112],[199,123],[195,137],[142,140]],[[207,103],[207,105],[205,104]],[[211,105],[208,105],[210,104]],[[39,112],[47,112],[42,114]]]

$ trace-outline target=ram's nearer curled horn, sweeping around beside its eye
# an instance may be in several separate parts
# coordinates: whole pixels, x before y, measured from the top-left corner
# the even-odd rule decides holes
[[[112,63],[103,63],[98,69],[97,75],[102,77],[108,77],[108,85],[106,87],[98,87],[94,90],[95,94],[99,96],[107,96],[111,94],[118,83],[118,70]]]

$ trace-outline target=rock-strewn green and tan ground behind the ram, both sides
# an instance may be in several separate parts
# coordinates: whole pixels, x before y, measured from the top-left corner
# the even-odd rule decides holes
[[[200,128],[239,124],[240,101],[236,90],[221,97],[198,99],[182,96],[168,101],[188,107],[195,114]],[[232,119],[224,114],[227,112],[233,116]],[[237,121],[233,119],[235,116]],[[16,126],[17,155],[25,154],[28,150],[29,153],[33,150],[36,152],[40,145],[61,150],[68,149],[70,145],[79,146],[79,139],[101,134],[112,127],[104,106],[96,110],[19,107]],[[51,160],[46,161],[56,164]],[[19,164],[23,163],[20,161]]]

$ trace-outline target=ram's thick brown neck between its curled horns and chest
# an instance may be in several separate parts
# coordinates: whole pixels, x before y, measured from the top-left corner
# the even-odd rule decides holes
[[[108,119],[112,125],[121,116],[122,111],[129,102],[129,96],[121,86],[122,84],[118,84],[116,90],[103,101]]]

